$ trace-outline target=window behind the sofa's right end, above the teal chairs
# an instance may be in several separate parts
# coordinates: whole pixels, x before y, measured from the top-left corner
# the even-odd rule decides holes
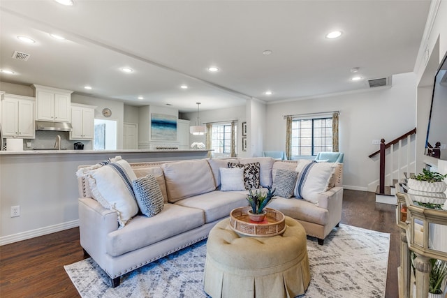
[[[293,119],[291,151],[292,156],[332,152],[332,117]]]

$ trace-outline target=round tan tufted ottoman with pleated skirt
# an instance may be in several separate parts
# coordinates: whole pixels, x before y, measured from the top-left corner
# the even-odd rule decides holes
[[[205,292],[219,297],[295,297],[310,282],[306,231],[286,216],[286,230],[273,237],[248,237],[230,228],[229,218],[207,240]]]

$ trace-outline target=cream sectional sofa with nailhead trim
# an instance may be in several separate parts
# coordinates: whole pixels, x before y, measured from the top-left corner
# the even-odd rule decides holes
[[[207,238],[213,226],[228,217],[232,209],[248,205],[245,199],[248,191],[220,190],[221,183],[226,183],[226,179],[221,179],[219,169],[228,167],[229,162],[258,165],[259,181],[263,188],[277,182],[274,178],[279,170],[303,173],[307,170],[306,177],[301,177],[301,183],[297,181],[294,184],[292,198],[275,197],[268,207],[295,218],[307,234],[316,237],[321,245],[332,228],[338,225],[343,198],[343,167],[340,163],[315,163],[313,170],[309,170],[309,161],[276,161],[268,157],[131,163],[128,165],[133,179],[148,174],[156,178],[163,195],[163,209],[152,217],[138,213],[128,221],[123,219],[126,211],[118,210],[119,203],[113,202],[104,207],[101,200],[94,199],[97,190],[93,188],[97,185],[91,184],[92,177],[96,183],[101,178],[91,173],[103,165],[80,166],[77,173],[81,197],[80,244],[85,253],[110,276],[113,287],[119,285],[123,274]],[[323,168],[325,170],[321,170]],[[298,174],[298,179],[300,176]],[[298,186],[305,184],[307,189],[302,188],[297,193]],[[114,189],[117,184],[109,185],[107,191],[117,194]],[[304,199],[296,198],[297,195]],[[306,195],[312,200],[307,200]]]

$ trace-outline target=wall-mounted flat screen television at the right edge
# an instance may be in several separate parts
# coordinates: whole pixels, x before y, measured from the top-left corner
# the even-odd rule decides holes
[[[447,160],[447,54],[434,77],[425,154]]]

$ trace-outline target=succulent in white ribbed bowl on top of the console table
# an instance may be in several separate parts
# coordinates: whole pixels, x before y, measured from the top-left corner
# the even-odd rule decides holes
[[[447,185],[443,181],[447,174],[439,174],[423,169],[422,173],[408,179],[407,186],[414,191],[424,191],[427,193],[444,193]]]

